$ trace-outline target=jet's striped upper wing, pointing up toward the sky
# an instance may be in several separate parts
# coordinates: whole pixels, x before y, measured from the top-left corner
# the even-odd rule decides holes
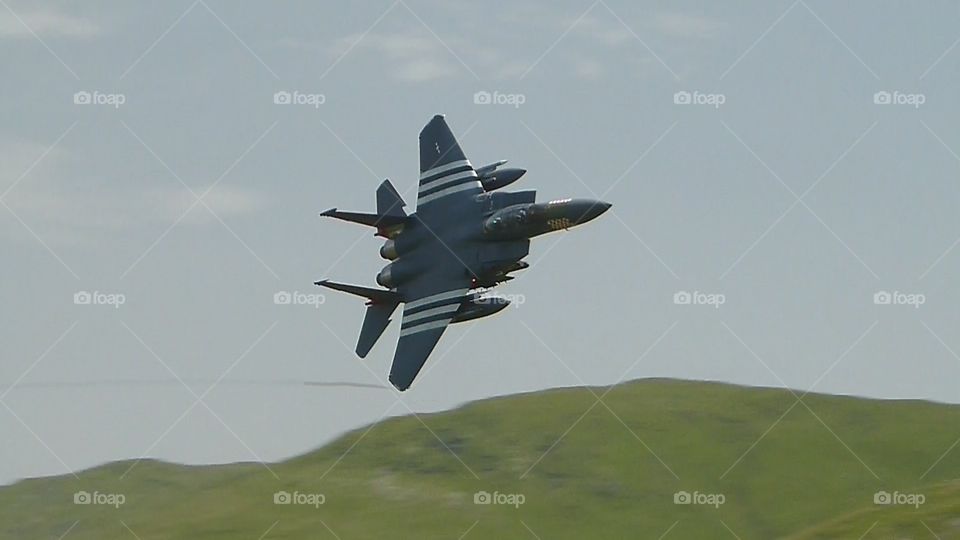
[[[421,216],[434,213],[437,207],[455,206],[439,204],[439,201],[449,203],[478,193],[483,193],[483,186],[477,171],[463,154],[447,121],[441,115],[434,116],[420,132],[417,212]]]

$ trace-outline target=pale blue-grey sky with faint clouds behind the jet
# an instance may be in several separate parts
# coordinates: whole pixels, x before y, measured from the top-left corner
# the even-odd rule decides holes
[[[960,403],[957,28],[946,1],[0,1],[0,483],[645,377]],[[317,214],[384,178],[413,211],[438,113],[528,169],[508,189],[613,208],[535,239],[513,305],[398,394],[399,324],[360,360],[361,301],[312,284],[373,285],[381,239]]]

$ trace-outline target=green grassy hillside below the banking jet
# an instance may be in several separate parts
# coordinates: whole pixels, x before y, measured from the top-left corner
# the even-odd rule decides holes
[[[927,528],[960,538],[960,448],[927,473],[960,438],[960,407],[809,395],[810,410],[791,409],[796,399],[785,390],[672,380],[620,385],[606,406],[596,404],[592,392],[605,390],[472,403],[421,416],[429,429],[414,417],[392,419],[271,464],[279,479],[259,464],[145,461],[123,479],[130,462],[79,480],[27,480],[0,489],[0,538],[57,538],[70,527],[71,540],[667,531],[666,538],[933,538]],[[124,504],[74,504],[81,490],[122,494]],[[881,490],[925,501],[875,505]],[[278,491],[324,499],[275,504]],[[475,504],[478,491],[513,503],[519,498],[509,495],[522,495],[523,504]],[[723,504],[675,504],[679,491],[722,496]]]

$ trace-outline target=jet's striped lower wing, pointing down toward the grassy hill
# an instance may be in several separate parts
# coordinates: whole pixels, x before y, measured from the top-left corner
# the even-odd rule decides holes
[[[430,272],[410,284],[411,299],[403,306],[400,341],[390,367],[390,383],[397,390],[413,383],[469,292],[470,278],[449,271]]]

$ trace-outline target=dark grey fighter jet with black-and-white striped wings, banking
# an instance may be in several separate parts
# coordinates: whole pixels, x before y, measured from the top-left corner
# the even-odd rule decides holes
[[[380,255],[391,262],[377,274],[382,288],[316,284],[367,299],[356,349],[361,358],[404,304],[390,368],[390,382],[400,391],[413,383],[447,325],[493,315],[509,304],[485,291],[529,266],[522,259],[531,238],[581,225],[610,208],[590,199],[537,203],[532,190],[497,191],[526,173],[502,168],[505,163],[474,168],[437,115],[420,132],[415,213],[403,210],[406,203],[384,180],[377,189],[377,213],[332,208],[320,214],[374,227],[376,236],[386,238]]]

